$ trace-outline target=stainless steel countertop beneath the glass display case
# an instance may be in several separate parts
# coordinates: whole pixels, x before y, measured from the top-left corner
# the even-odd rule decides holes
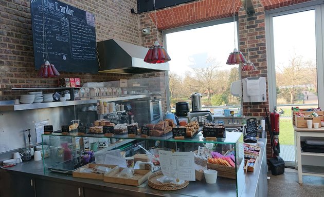
[[[255,172],[247,172],[246,174],[245,188],[241,195],[242,197],[247,197],[247,196],[265,197],[267,193],[267,187],[265,188],[261,187],[261,190],[263,191],[260,191],[260,186],[259,186],[260,184],[264,184],[264,183],[266,184],[266,170],[264,166],[266,164],[265,161],[266,140],[261,139],[260,141],[264,143],[264,146],[261,149],[260,157],[255,167]],[[124,193],[125,195],[127,193],[129,194],[129,192],[136,192],[136,196],[201,196],[201,197],[236,196],[235,181],[221,178],[221,177],[218,177],[217,184],[206,184],[205,181],[190,182],[190,184],[184,189],[168,192],[168,191],[159,191],[159,190],[152,189],[147,185],[147,182],[143,183],[139,187],[134,187],[134,186],[127,186],[127,185],[120,185],[120,184],[105,183],[99,180],[73,178],[73,176],[71,175],[60,174],[60,173],[47,172],[44,174],[42,161],[23,162],[17,164],[16,166],[10,168],[4,168],[1,170],[10,170],[19,173],[27,173],[39,179],[47,179],[47,180],[59,179],[60,181],[63,182],[65,181],[78,182],[78,183],[86,184],[86,186],[89,188],[99,189],[99,190],[101,189],[107,191],[118,191],[119,193]],[[260,178],[262,178],[262,180]],[[260,192],[262,192],[263,194],[260,194]]]

